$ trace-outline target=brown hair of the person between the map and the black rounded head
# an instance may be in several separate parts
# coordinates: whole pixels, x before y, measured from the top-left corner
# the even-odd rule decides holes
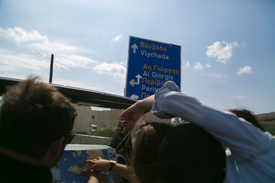
[[[137,127],[131,163],[140,182],[156,182],[159,145],[170,130],[170,123],[146,122]]]

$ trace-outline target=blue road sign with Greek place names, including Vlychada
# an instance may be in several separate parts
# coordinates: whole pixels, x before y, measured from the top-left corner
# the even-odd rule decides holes
[[[125,96],[144,99],[168,80],[181,87],[181,46],[130,36]]]

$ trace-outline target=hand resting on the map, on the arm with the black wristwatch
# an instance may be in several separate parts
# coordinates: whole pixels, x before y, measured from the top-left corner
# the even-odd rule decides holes
[[[109,171],[110,165],[110,160],[104,160],[98,157],[98,160],[87,160],[83,172],[87,173],[89,171]]]

